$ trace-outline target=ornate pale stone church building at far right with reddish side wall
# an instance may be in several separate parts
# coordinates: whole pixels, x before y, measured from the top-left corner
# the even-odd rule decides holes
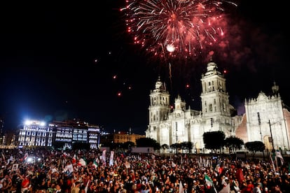
[[[274,83],[268,96],[260,92],[256,99],[246,99],[245,115],[236,135],[243,141],[262,141],[266,150],[289,150],[290,113]]]

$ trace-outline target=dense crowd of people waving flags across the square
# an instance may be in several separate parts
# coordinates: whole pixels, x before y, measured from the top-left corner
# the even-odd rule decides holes
[[[289,163],[106,150],[1,150],[0,192],[290,192]]]

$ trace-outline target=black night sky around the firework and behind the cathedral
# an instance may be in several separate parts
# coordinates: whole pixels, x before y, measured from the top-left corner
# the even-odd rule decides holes
[[[290,106],[286,5],[235,1],[226,50],[212,59],[225,74],[230,103],[243,113],[244,99],[279,85]],[[0,115],[5,131],[22,122],[80,118],[106,131],[144,134],[149,94],[158,76],[172,103],[177,94],[200,110],[200,78],[207,50],[186,62],[168,63],[132,43],[120,8],[125,1],[0,6]],[[171,81],[170,81],[171,80]],[[189,85],[189,87],[186,87]],[[118,95],[120,93],[120,96]]]

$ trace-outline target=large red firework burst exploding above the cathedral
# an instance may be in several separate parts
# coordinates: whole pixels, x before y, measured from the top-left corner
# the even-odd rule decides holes
[[[134,43],[158,57],[189,57],[208,51],[225,34],[224,3],[213,0],[127,0],[127,31]]]

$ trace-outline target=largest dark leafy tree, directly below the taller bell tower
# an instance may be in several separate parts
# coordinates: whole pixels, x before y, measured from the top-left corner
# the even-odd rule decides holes
[[[205,132],[202,136],[205,148],[214,151],[220,150],[223,147],[223,142],[226,137],[223,131]]]

